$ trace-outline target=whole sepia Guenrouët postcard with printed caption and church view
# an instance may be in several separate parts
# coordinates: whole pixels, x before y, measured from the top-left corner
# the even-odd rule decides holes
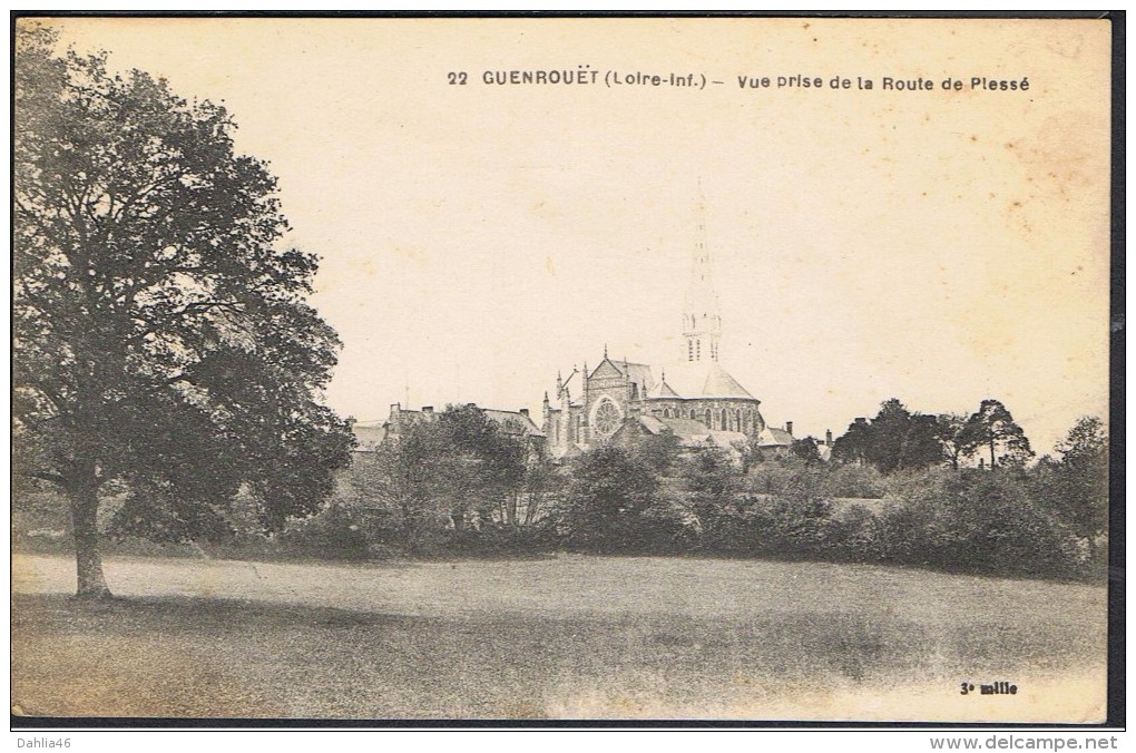
[[[1105,719],[1109,20],[14,23],[14,720]]]

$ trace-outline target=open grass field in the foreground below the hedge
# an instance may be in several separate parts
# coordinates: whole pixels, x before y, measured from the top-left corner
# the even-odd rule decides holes
[[[34,716],[1087,721],[1104,588],[666,558],[12,561]],[[1016,695],[961,695],[1008,680]]]

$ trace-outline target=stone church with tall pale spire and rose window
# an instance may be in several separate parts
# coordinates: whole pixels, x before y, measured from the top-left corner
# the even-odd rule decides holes
[[[766,430],[761,401],[721,365],[721,315],[701,221],[693,257],[678,361],[655,377],[650,366],[612,359],[604,348],[593,369],[585,362],[567,378],[558,375],[552,396],[544,394],[542,430],[550,455],[570,457],[663,432],[687,447],[728,449],[751,437],[759,444],[792,443],[791,430]]]

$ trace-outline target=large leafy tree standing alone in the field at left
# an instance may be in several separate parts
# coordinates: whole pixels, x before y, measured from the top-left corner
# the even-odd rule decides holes
[[[100,597],[110,485],[124,529],[167,539],[224,529],[237,492],[269,529],[317,509],[352,442],[319,402],[339,341],[223,107],[16,36],[16,471],[62,491],[77,594]]]

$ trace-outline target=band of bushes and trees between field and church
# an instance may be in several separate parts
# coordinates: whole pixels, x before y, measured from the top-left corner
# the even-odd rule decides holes
[[[975,415],[1009,415],[989,410],[994,402]],[[1108,532],[1100,419],[1079,420],[1033,465],[1017,462],[1025,436],[1010,432],[983,468],[955,467],[942,445],[933,462],[912,441],[912,424],[924,420],[886,401],[867,432],[855,429],[857,442],[870,438],[866,457],[834,453],[830,462],[809,457],[804,443],[755,457],[752,447],[684,451],[661,435],[553,463],[476,408],[450,407],[358,455],[328,511],[296,521],[282,541],[362,558],[568,550],[1100,574]],[[912,465],[916,457],[924,462]]]

